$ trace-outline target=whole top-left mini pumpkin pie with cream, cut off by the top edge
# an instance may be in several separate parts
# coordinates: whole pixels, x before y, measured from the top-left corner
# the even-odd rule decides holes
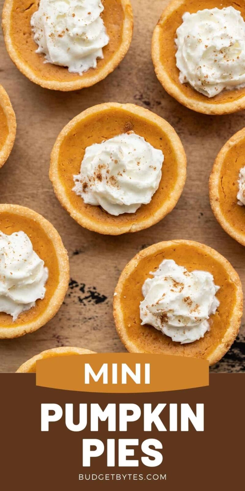
[[[133,32],[129,0],[5,0],[7,51],[32,82],[54,90],[89,87],[126,55]]]

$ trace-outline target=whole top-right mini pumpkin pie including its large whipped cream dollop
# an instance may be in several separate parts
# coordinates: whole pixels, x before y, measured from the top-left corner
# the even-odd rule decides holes
[[[244,2],[172,0],[152,37],[152,60],[165,90],[197,112],[244,109],[244,19]]]

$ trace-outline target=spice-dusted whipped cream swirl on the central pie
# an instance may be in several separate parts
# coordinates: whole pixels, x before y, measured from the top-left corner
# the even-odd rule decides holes
[[[114,136],[86,148],[73,191],[111,215],[135,213],[158,189],[163,161],[163,152],[142,136]]]

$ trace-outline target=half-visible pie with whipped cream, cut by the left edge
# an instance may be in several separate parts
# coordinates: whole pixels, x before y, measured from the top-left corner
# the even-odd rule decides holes
[[[0,338],[44,326],[60,308],[69,261],[48,220],[18,205],[0,205]]]

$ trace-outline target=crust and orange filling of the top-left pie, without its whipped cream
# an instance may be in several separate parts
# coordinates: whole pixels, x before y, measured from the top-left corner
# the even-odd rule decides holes
[[[32,82],[53,90],[77,90],[90,87],[113,72],[126,55],[133,33],[133,12],[129,0],[102,0],[109,43],[103,48],[103,59],[83,75],[70,73],[66,67],[44,63],[43,54],[35,53],[37,44],[30,26],[39,2],[5,0],[2,30],[8,54],[17,68]]]

